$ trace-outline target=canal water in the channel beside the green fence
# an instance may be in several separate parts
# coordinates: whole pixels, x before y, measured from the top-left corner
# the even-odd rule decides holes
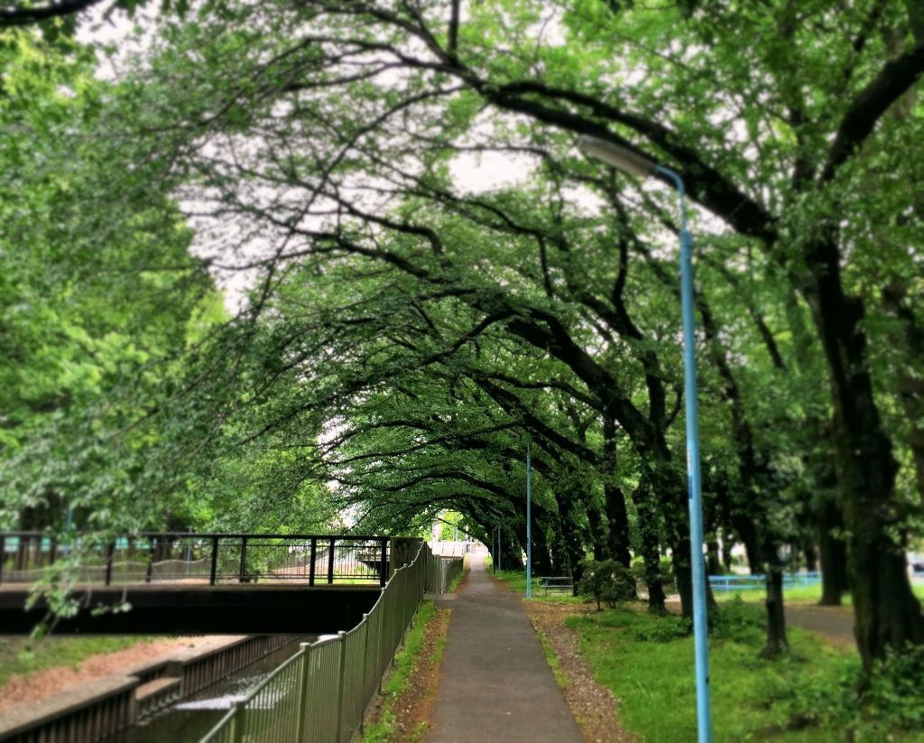
[[[314,635],[295,639],[247,668],[225,676],[211,687],[177,701],[144,725],[128,727],[115,736],[107,737],[105,743],[186,743],[199,740],[274,668],[298,652],[299,642],[313,642],[315,639]]]

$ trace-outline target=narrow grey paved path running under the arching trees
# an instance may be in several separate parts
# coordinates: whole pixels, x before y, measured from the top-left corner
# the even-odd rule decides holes
[[[496,589],[473,554],[468,584],[452,600],[428,743],[581,743],[520,597]]]

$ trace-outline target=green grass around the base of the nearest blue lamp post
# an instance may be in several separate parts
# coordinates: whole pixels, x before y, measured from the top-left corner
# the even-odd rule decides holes
[[[881,710],[873,709],[872,718],[869,710],[861,716],[854,692],[860,665],[853,649],[835,648],[793,627],[791,651],[775,661],[760,660],[760,607],[736,602],[723,609],[718,637],[710,639],[716,743],[924,740],[920,732],[883,722],[889,718]],[[626,730],[646,743],[696,740],[693,639],[683,620],[614,610],[571,617],[568,624],[577,630],[596,680],[620,700]],[[845,738],[848,730],[853,737]]]

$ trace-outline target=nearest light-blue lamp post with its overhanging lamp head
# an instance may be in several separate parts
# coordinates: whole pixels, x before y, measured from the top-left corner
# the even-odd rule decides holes
[[[680,202],[680,304],[684,325],[684,396],[687,402],[687,488],[690,511],[690,556],[693,563],[693,635],[696,649],[697,725],[699,743],[712,739],[709,688],[709,647],[706,625],[706,568],[703,562],[702,492],[699,483],[699,408],[696,393],[696,347],[693,325],[693,240],[687,230],[686,190],[683,179],[670,168],[652,163],[637,152],[596,137],[577,142],[588,156],[613,165],[631,176],[652,173],[671,180]]]

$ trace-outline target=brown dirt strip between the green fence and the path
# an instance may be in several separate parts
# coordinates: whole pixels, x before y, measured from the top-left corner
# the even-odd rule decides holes
[[[468,574],[463,582],[467,579]],[[407,743],[426,736],[440,680],[440,665],[451,613],[450,609],[436,608],[436,613],[424,630],[417,664],[407,676],[407,687],[394,699],[380,698],[370,713],[367,723],[378,720],[384,713],[394,715],[393,732],[385,738],[389,743]]]

